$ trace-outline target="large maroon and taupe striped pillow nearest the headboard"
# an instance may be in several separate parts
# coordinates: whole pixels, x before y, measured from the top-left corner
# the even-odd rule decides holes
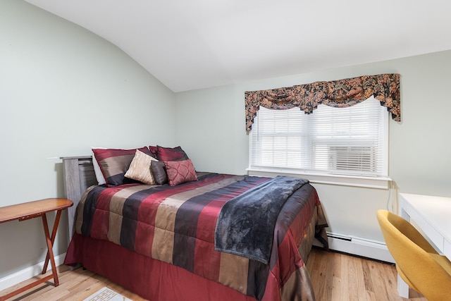
[[[92,149],[94,157],[99,163],[101,173],[104,175],[106,185],[109,187],[133,183],[133,180],[125,178],[125,173],[135,157],[137,149]],[[144,154],[150,154],[147,147],[138,150]]]

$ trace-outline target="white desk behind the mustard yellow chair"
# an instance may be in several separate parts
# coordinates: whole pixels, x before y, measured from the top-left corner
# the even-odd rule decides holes
[[[451,260],[451,197],[400,193],[399,204],[400,215],[414,221],[435,249]],[[409,286],[400,276],[397,278],[398,293],[408,298]]]

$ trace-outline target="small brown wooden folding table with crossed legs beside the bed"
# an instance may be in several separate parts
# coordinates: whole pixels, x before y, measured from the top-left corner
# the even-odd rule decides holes
[[[6,223],[7,221],[25,221],[27,219],[34,219],[36,217],[42,217],[42,224],[44,226],[44,234],[47,241],[47,257],[44,262],[44,267],[42,269],[42,274],[47,272],[47,266],[51,264],[51,274],[42,279],[39,279],[33,283],[25,285],[23,288],[19,288],[18,290],[14,290],[11,293],[8,293],[4,296],[0,296],[0,301],[4,301],[8,298],[11,298],[15,295],[18,295],[25,290],[35,287],[40,283],[48,281],[51,278],[54,278],[55,286],[59,285],[58,281],[58,272],[56,271],[55,259],[54,259],[54,251],[53,245],[56,236],[56,230],[58,230],[58,223],[61,217],[61,211],[73,205],[73,202],[70,199],[40,199],[34,202],[27,202],[23,204],[16,204],[6,207],[0,207],[0,223]],[[54,228],[51,233],[49,233],[49,226],[47,224],[47,212],[56,211],[56,218],[54,223]]]

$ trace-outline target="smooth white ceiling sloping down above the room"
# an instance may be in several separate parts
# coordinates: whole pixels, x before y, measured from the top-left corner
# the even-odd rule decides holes
[[[181,92],[451,49],[449,0],[26,0]]]

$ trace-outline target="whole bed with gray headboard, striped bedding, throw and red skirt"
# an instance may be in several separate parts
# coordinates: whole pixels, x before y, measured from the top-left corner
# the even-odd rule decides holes
[[[119,171],[118,161],[104,164],[115,173],[105,178],[119,185],[99,185],[99,154],[62,158],[75,204],[64,264],[82,264],[147,300],[315,300],[304,261],[315,238],[327,247],[327,222],[307,180],[204,173],[186,154],[144,153],[162,159],[152,167],[166,163],[168,183],[124,177],[137,149],[125,163],[121,156]],[[171,181],[168,162],[194,174]]]

